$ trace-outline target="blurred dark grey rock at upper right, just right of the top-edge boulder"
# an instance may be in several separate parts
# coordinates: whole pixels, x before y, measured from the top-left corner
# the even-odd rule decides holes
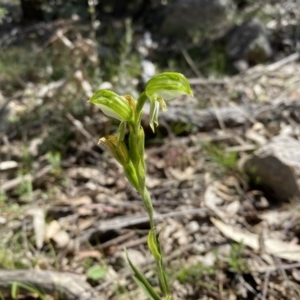
[[[228,38],[227,55],[232,60],[261,63],[272,55],[267,31],[257,19],[235,27]]]

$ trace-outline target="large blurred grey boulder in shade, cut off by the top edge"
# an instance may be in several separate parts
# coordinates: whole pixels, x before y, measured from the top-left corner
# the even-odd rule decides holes
[[[213,30],[225,33],[234,12],[232,0],[175,0],[165,7],[160,32],[172,36]]]

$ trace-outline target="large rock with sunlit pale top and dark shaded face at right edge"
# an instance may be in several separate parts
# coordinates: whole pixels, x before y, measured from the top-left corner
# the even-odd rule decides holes
[[[300,142],[276,136],[243,164],[243,169],[278,200],[300,199]]]

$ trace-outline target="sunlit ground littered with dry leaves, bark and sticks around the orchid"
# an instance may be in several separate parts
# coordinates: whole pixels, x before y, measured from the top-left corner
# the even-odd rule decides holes
[[[147,299],[124,249],[157,286],[148,219],[98,145],[118,124],[87,103],[97,88],[136,97],[136,56],[122,44],[124,59],[105,81],[111,62],[84,26],[35,26],[43,42],[34,36],[1,55],[0,295]],[[155,135],[143,118],[173,299],[300,299],[299,199],[278,200],[241,167],[274,136],[299,141],[299,53],[233,76],[193,73],[195,97],[169,102]]]

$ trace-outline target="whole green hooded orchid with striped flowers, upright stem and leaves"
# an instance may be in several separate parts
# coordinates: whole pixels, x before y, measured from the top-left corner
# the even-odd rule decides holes
[[[109,90],[98,90],[89,102],[97,105],[107,116],[119,120],[120,126],[117,136],[106,136],[100,139],[113,157],[123,166],[124,173],[131,185],[141,195],[150,223],[148,234],[148,248],[156,262],[160,293],[158,293],[145,276],[135,267],[127,254],[128,262],[134,272],[134,280],[141,287],[149,299],[171,300],[169,283],[163,264],[163,254],[159,242],[159,232],[153,217],[153,206],[150,194],[146,188],[146,166],[144,160],[145,135],[141,126],[143,107],[150,101],[150,127],[155,130],[158,125],[159,108],[166,110],[164,100],[170,100],[179,95],[192,95],[187,79],[179,73],[165,72],[150,79],[145,90],[137,101],[130,96],[119,96]],[[128,147],[124,142],[128,128]],[[161,296],[163,298],[161,298]]]

